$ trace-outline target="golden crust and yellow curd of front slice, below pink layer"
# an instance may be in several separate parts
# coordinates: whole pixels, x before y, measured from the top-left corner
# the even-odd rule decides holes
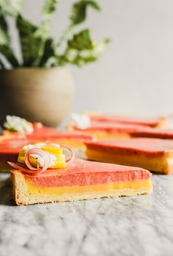
[[[103,197],[136,196],[150,194],[152,183],[150,174],[143,170],[146,177],[143,179],[123,180],[108,183],[95,183],[90,185],[73,184],[72,186],[38,186],[33,184],[27,175],[21,171],[12,170],[13,197],[17,205],[31,205],[34,203],[66,202],[77,200],[93,200]],[[64,174],[65,175],[65,174]],[[108,172],[109,175],[109,172]],[[135,172],[132,173],[135,175]],[[54,178],[59,179],[59,175]],[[50,178],[50,177],[49,177]],[[42,180],[42,176],[37,176]]]

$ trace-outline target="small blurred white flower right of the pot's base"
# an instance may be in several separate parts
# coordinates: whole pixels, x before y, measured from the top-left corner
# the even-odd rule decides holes
[[[90,120],[90,117],[87,116],[87,114],[73,113],[71,115],[71,118],[73,122],[75,122],[76,127],[81,130],[87,129],[91,126],[91,120]]]

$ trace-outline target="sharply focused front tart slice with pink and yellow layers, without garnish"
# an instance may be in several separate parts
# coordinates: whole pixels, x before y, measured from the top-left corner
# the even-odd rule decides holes
[[[62,169],[26,175],[13,169],[13,195],[17,205],[92,200],[150,194],[151,174],[137,167],[123,167],[75,159]]]

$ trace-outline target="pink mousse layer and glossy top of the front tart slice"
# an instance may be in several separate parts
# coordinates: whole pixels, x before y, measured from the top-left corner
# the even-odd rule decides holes
[[[47,169],[37,176],[25,176],[36,186],[62,187],[147,180],[151,174],[138,167],[124,167],[76,158],[65,169]]]

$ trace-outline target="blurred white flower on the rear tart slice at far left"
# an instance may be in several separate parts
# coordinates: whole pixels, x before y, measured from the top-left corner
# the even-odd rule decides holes
[[[34,131],[31,122],[27,122],[24,118],[9,116],[6,117],[6,122],[4,122],[4,128],[9,131],[19,131],[21,133],[32,134]]]

